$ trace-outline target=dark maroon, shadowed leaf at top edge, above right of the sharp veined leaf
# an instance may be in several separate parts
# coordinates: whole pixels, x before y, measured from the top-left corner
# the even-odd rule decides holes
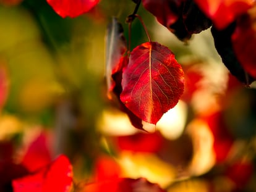
[[[211,26],[211,21],[192,0],[142,0],[142,4],[155,15],[158,22],[182,41],[189,40],[192,34]]]

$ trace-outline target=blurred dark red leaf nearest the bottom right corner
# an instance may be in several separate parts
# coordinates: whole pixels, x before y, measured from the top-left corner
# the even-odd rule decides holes
[[[244,188],[244,186],[249,182],[253,173],[254,165],[252,162],[238,161],[225,170],[225,175],[234,182],[238,190]]]

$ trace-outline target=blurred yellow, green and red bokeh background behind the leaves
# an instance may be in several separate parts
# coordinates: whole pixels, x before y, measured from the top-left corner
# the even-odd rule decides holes
[[[0,161],[22,164],[33,147],[35,167],[66,154],[77,185],[145,177],[168,191],[256,191],[255,85],[229,75],[210,30],[185,44],[140,7],[151,39],[184,69],[184,95],[156,127],[145,125],[150,133],[108,100],[106,27],[118,17],[128,39],[134,7],[102,0],[63,19],[45,0],[0,1]],[[147,41],[139,20],[130,41]]]

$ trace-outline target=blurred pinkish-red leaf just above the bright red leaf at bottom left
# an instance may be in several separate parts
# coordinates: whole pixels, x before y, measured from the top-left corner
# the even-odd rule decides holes
[[[41,133],[28,147],[22,159],[22,165],[30,172],[34,172],[51,162],[51,154],[46,142],[45,133]]]

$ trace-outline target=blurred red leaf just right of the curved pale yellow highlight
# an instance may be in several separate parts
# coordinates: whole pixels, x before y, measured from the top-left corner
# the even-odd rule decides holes
[[[205,117],[205,121],[208,123],[208,126],[214,136],[213,148],[216,154],[216,162],[224,162],[226,157],[228,157],[228,153],[234,143],[234,139],[224,123],[221,112],[216,112]]]

